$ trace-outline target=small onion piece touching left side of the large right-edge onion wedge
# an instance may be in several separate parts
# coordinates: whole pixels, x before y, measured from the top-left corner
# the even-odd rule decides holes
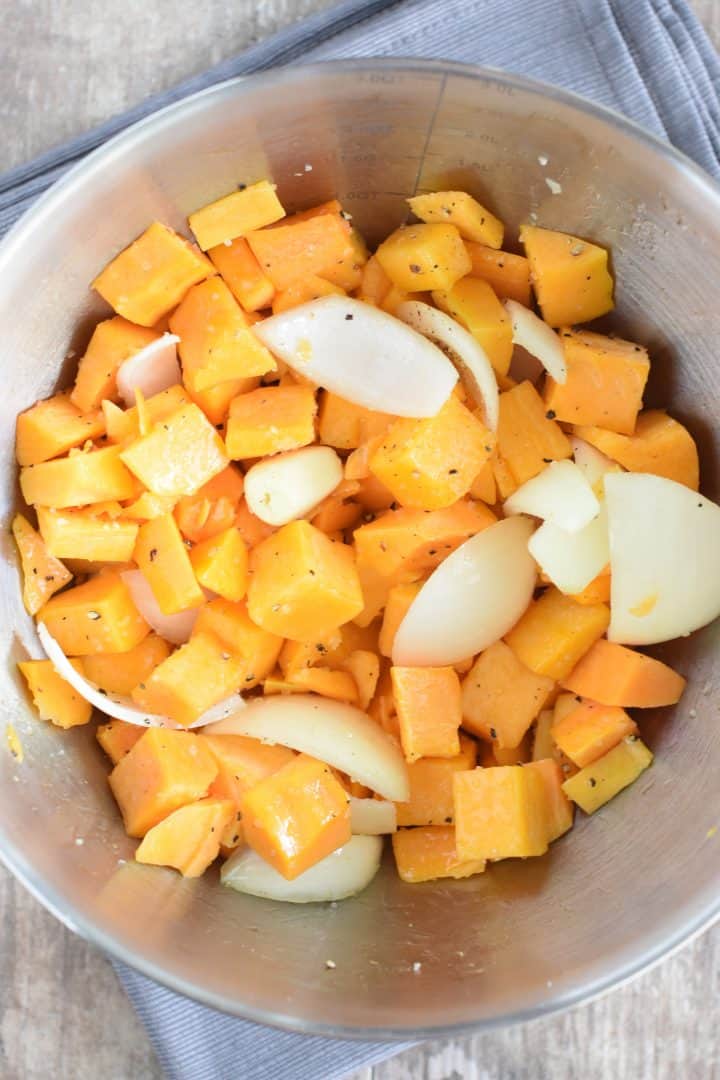
[[[567,532],[553,522],[544,522],[530,537],[528,551],[561,593],[581,593],[610,562],[604,505],[578,532]]]

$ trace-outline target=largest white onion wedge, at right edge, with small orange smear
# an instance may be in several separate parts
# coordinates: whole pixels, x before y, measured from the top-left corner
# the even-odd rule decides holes
[[[654,645],[720,615],[720,507],[648,473],[608,473],[608,638]]]

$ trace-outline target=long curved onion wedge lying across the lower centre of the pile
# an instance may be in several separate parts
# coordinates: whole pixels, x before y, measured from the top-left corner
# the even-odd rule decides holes
[[[354,705],[310,693],[256,698],[207,733],[280,743],[347,772],[385,799],[409,798],[407,767],[397,744]]]

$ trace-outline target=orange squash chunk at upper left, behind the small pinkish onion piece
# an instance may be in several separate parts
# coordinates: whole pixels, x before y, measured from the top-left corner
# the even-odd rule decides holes
[[[98,408],[104,399],[118,395],[118,368],[160,337],[158,330],[137,326],[122,315],[105,319],[93,330],[80,360],[70,401],[83,413]]]

